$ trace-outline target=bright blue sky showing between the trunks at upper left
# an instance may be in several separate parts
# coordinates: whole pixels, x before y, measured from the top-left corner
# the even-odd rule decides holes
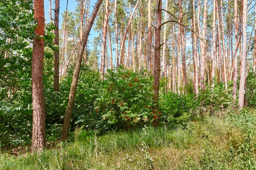
[[[55,8],[54,6],[55,0],[52,0],[52,8]],[[90,12],[93,11],[93,6],[95,5],[96,0],[90,0]],[[45,12],[45,20],[47,23],[50,22],[50,17],[49,17],[49,0],[44,0],[44,12]],[[66,5],[67,5],[67,0],[60,0],[60,23],[59,25],[61,26],[61,23],[63,21],[62,18],[62,13],[65,12],[66,10]],[[67,10],[68,11],[75,11],[77,6],[76,0],[68,0],[68,5],[67,5]],[[52,17],[54,17],[54,11],[52,11]],[[93,38],[98,36],[98,33],[92,28],[90,31],[90,35],[88,37],[89,42],[93,41]],[[91,43],[88,44],[88,47],[91,48]]]

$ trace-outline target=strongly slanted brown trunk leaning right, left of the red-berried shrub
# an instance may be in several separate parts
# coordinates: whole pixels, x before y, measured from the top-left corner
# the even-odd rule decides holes
[[[90,30],[93,26],[93,22],[95,20],[95,17],[99,11],[99,7],[101,6],[102,0],[98,0],[93,12],[90,16],[90,19],[88,20],[87,27],[84,30],[84,34],[82,37],[81,42],[79,43],[79,48],[78,48],[78,54],[76,57],[76,65],[75,65],[75,70],[72,78],[72,83],[71,83],[71,88],[70,88],[70,94],[68,97],[68,103],[67,103],[67,108],[65,111],[65,116],[64,116],[64,122],[63,122],[63,127],[62,127],[62,133],[61,133],[61,140],[66,140],[68,137],[69,133],[69,127],[70,127],[70,119],[71,119],[71,113],[73,110],[73,105],[74,105],[74,100],[75,100],[75,95],[76,95],[76,88],[77,88],[77,83],[79,79],[79,73],[80,73],[80,67],[81,67],[81,62],[83,59],[83,53],[84,53],[84,48],[88,39],[88,36],[90,34]]]

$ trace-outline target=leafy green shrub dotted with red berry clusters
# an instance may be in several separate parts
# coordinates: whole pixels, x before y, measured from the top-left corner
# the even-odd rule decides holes
[[[156,116],[152,109],[152,77],[146,71],[134,73],[122,67],[108,70],[104,82],[95,104],[104,123],[126,129]]]

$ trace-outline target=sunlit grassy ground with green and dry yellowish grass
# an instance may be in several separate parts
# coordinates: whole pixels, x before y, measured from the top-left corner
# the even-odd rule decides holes
[[[78,131],[75,142],[41,155],[0,154],[0,170],[255,170],[255,127],[256,110],[250,110],[198,116],[186,127],[112,132],[97,144]]]

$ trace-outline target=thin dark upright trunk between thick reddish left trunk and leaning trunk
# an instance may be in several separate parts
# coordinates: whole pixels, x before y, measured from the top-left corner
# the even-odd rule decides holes
[[[54,25],[56,29],[54,30],[54,44],[57,49],[54,51],[54,91],[59,91],[59,13],[60,1],[55,0]]]

